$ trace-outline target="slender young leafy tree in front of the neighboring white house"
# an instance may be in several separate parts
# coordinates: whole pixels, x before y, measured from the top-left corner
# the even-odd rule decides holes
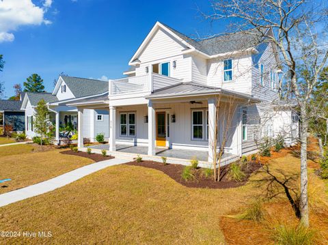
[[[46,106],[46,102],[43,99],[40,100],[36,106],[36,114],[34,115],[33,126],[36,133],[40,134],[42,149],[42,141],[46,133],[49,132],[51,126],[51,124],[49,124],[48,107]]]

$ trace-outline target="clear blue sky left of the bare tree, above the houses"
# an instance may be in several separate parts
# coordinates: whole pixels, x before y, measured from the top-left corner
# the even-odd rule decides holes
[[[0,42],[5,59],[0,81],[5,83],[7,97],[12,96],[15,83],[23,85],[33,73],[44,79],[46,91],[52,91],[53,80],[61,72],[85,78],[122,77],[156,20],[190,36],[213,32],[197,12],[197,7],[210,10],[209,1],[204,0],[167,0],[165,5],[159,1],[20,1],[32,1],[43,19],[2,29],[10,33],[10,40]],[[224,31],[223,27],[215,23],[214,32]]]

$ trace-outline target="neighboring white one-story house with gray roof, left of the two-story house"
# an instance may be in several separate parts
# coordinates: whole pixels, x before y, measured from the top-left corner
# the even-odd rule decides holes
[[[73,76],[59,76],[57,84],[52,93],[30,93],[25,94],[22,109],[25,111],[25,132],[29,139],[36,136],[33,129],[33,115],[38,102],[43,99],[46,101],[51,120],[56,126],[56,141],[59,142],[59,126],[66,126],[71,123],[75,129],[78,125],[78,116],[76,107],[68,107],[66,103],[74,102],[81,98],[92,98],[99,94],[108,95],[108,82],[95,79],[77,78]],[[94,141],[97,134],[105,134],[108,138],[108,111],[87,110],[83,115],[83,122],[90,125],[85,130],[83,137]]]

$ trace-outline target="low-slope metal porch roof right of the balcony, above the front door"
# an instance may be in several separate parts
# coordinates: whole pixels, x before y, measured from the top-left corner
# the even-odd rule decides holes
[[[179,83],[170,87],[155,90],[150,96],[146,96],[148,99],[159,98],[173,98],[173,97],[187,97],[187,96],[203,96],[207,94],[225,94],[227,96],[236,96],[236,98],[243,98],[251,100],[253,102],[260,102],[260,100],[250,96],[246,93],[239,93],[226,89],[220,89],[217,87],[210,87],[202,85],[200,83]]]

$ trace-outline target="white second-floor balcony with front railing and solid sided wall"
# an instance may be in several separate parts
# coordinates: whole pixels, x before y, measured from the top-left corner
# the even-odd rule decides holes
[[[151,93],[156,89],[161,89],[181,82],[181,79],[163,76],[156,73],[142,76],[129,76],[109,81],[109,95],[137,92]]]

